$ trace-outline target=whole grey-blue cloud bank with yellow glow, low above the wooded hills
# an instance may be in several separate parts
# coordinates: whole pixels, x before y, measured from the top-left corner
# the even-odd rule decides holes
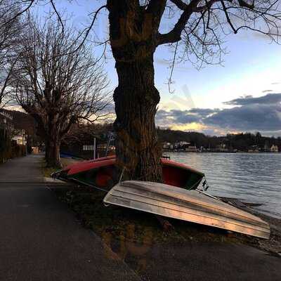
[[[199,130],[215,134],[234,131],[261,131],[280,136],[281,93],[268,93],[254,98],[245,96],[230,100],[232,108],[192,108],[190,110],[159,110],[156,115],[158,126]]]

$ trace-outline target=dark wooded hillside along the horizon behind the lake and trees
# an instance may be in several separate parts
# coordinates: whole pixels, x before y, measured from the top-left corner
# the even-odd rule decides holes
[[[25,112],[20,112],[16,110],[6,110],[13,116],[13,123],[15,129],[25,129],[29,135],[36,134],[36,122],[34,119],[27,115]],[[109,131],[112,131],[112,124],[88,124],[80,125],[79,127],[74,126],[70,133],[65,137],[65,141],[71,142],[72,138],[80,141],[85,141],[88,138],[93,138],[93,134],[103,136],[106,139],[106,135]],[[87,131],[89,137],[87,135]],[[89,133],[91,131],[91,133]],[[83,132],[81,134],[81,132]],[[157,129],[157,134],[159,141],[162,143],[177,143],[180,141],[186,141],[191,145],[196,145],[197,148],[201,146],[204,148],[217,148],[218,145],[226,145],[227,148],[247,151],[251,146],[256,146],[261,149],[267,147],[270,148],[271,145],[277,145],[281,151],[281,137],[273,138],[261,136],[261,133],[238,133],[238,134],[228,134],[226,136],[206,136],[204,133],[197,133],[194,131],[174,131],[171,129]],[[68,139],[70,138],[70,139]],[[72,140],[73,141],[73,140]]]

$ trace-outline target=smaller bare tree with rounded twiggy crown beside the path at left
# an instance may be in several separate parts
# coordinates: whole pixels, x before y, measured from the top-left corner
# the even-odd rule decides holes
[[[60,141],[73,124],[104,117],[107,77],[74,30],[48,18],[29,19],[13,72],[15,98],[39,125],[48,166],[60,166]]]

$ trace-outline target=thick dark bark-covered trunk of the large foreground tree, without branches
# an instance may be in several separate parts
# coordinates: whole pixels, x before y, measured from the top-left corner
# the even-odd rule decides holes
[[[155,129],[160,98],[154,85],[153,54],[161,19],[154,10],[159,9],[160,15],[165,5],[155,2],[145,8],[138,0],[107,0],[110,45],[119,79],[114,93],[117,159],[129,178],[143,181],[162,181]]]

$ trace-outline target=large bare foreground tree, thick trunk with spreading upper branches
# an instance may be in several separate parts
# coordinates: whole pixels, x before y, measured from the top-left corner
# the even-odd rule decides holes
[[[160,100],[154,79],[155,50],[163,44],[174,49],[173,70],[178,58],[199,66],[219,63],[221,36],[230,32],[251,30],[277,41],[280,0],[107,0],[91,13],[91,25],[79,37],[83,41],[103,9],[109,15],[109,41],[119,79],[114,93],[117,157],[131,178],[162,181],[155,129]],[[57,9],[54,13],[60,18]],[[163,18],[171,20],[166,33],[160,32]]]

